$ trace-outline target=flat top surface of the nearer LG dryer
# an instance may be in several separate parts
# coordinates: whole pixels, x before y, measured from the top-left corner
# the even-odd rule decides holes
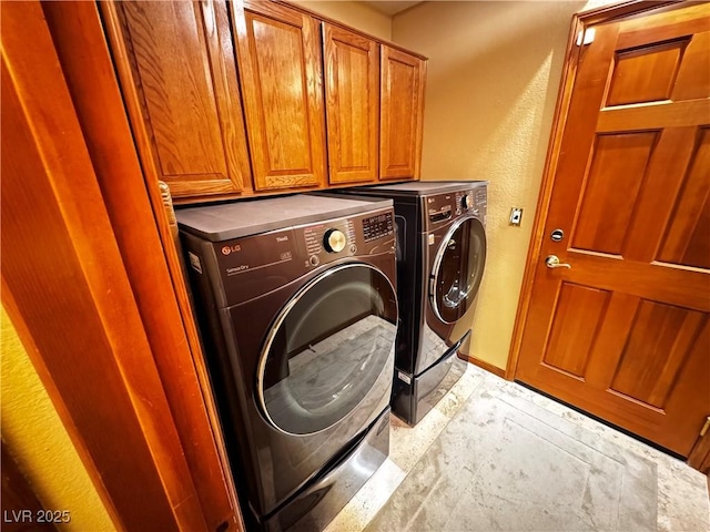
[[[175,217],[181,229],[211,242],[222,242],[389,206],[392,200],[296,194],[180,208]]]

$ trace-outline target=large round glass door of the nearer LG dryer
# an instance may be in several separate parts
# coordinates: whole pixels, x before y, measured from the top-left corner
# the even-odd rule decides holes
[[[318,275],[266,337],[256,387],[262,413],[288,434],[334,426],[392,371],[396,332],[396,291],[382,270],[349,263]]]

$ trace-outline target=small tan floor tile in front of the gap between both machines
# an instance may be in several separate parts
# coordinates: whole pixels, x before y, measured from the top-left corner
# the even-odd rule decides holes
[[[442,433],[449,419],[433,409],[415,427],[399,418],[390,418],[389,459],[408,473]]]

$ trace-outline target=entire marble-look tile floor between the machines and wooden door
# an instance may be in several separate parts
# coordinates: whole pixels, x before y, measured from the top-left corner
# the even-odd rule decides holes
[[[508,413],[510,409],[517,413],[508,416],[504,423],[496,421],[490,418],[495,411],[491,408],[494,403],[508,409]],[[475,416],[483,416],[477,422],[484,426],[487,421],[499,426],[497,441],[494,438],[491,442],[484,434],[483,426],[470,424]],[[490,419],[484,419],[486,416]],[[457,423],[463,424],[457,427]],[[520,427],[535,427],[541,439],[526,439]],[[488,442],[485,442],[486,438]],[[495,451],[496,446],[503,449],[506,440],[511,447],[519,447],[514,456],[529,456],[531,447],[540,456],[549,454],[551,451],[546,441],[564,442],[567,454],[562,457],[567,458],[560,459],[559,466],[564,462],[566,467],[555,474],[546,471],[535,473],[545,475],[544,484],[549,487],[548,491],[538,493],[534,488],[526,488],[526,482],[535,475],[528,475],[528,479],[520,477],[520,471],[506,469],[491,456],[480,452],[481,449]],[[393,463],[387,468],[396,468],[398,473],[388,484],[394,493],[386,502],[387,512],[383,508],[377,513],[377,509],[383,507],[382,500],[375,502],[376,497],[372,492],[362,495],[361,491],[353,501],[362,498],[373,502],[357,507],[358,503],[352,501],[353,507],[348,504],[328,525],[327,532],[365,529],[422,531],[435,530],[435,524],[452,531],[483,530],[481,523],[484,529],[488,523],[488,529],[514,526],[516,530],[532,530],[528,519],[510,521],[513,518],[504,510],[529,505],[536,498],[542,498],[550,504],[550,514],[538,514],[536,519],[539,525],[544,525],[546,519],[549,525],[554,525],[559,523],[560,512],[568,510],[567,504],[559,505],[554,500],[565,500],[567,493],[579,493],[582,483],[585,490],[579,505],[582,520],[578,523],[570,521],[569,530],[710,530],[710,499],[704,475],[576,410],[475,366],[467,368],[460,380],[418,426],[410,428],[392,418],[389,458]],[[532,459],[530,457],[530,461]],[[532,468],[530,471],[535,470],[534,463],[529,467]],[[405,474],[407,477],[403,481]],[[471,475],[474,481],[470,481]],[[379,492],[387,492],[387,488]],[[477,501],[473,507],[464,502],[469,498]],[[445,502],[432,504],[437,499]],[[621,513],[615,509],[613,501],[625,507]],[[601,507],[595,509],[595,504]],[[361,509],[356,511],[355,508]],[[491,518],[486,512],[495,515]],[[592,518],[601,521],[595,523]],[[387,529],[389,525],[395,528]]]

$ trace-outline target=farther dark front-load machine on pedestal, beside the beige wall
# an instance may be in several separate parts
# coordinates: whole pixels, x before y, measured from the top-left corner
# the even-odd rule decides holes
[[[409,424],[432,410],[466,367],[457,355],[471,334],[486,264],[487,184],[412,182],[338,191],[394,201],[402,323],[392,408]]]

